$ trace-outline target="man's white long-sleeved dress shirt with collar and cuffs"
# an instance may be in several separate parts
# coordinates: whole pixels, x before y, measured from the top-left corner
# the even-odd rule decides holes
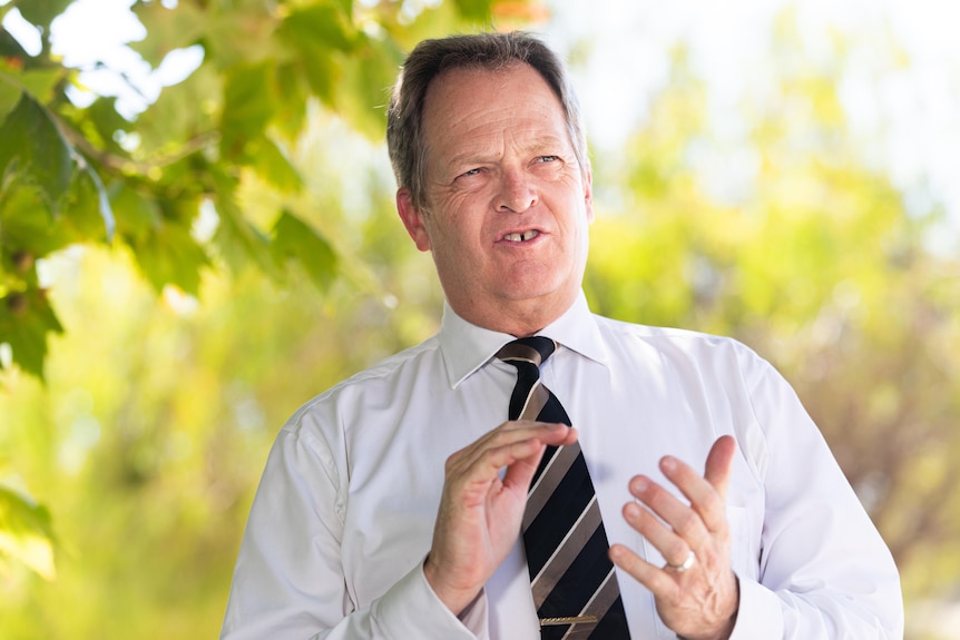
[[[595,316],[582,294],[540,332],[580,434],[610,543],[664,560],[621,515],[627,483],[672,454],[703,469],[737,443],[727,498],[739,612],[733,638],[902,638],[892,558],[786,382],[729,338]],[[512,336],[444,308],[441,331],[301,407],[266,463],[221,638],[538,640],[522,544],[458,619],[427,583],[454,451],[507,420]],[[653,594],[618,570],[634,640],[676,638]]]

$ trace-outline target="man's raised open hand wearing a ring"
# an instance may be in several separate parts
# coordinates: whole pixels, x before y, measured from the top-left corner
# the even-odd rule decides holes
[[[650,564],[623,544],[610,547],[614,563],[654,593],[660,619],[688,640],[726,640],[736,622],[739,592],[731,569],[726,520],[735,451],[733,437],[719,437],[707,455],[703,476],[673,456],[660,460],[664,475],[689,504],[647,476],[630,481],[630,493],[646,509],[630,502],[624,516],[657,548],[666,565]]]

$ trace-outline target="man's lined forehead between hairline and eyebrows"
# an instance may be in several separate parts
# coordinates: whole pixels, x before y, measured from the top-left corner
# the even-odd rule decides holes
[[[423,104],[428,148],[439,150],[498,135],[555,135],[569,141],[564,108],[526,63],[503,69],[454,68],[430,83]]]

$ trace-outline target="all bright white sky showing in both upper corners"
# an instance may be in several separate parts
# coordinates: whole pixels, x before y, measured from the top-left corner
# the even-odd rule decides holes
[[[8,2],[0,0],[0,6]],[[667,56],[678,41],[688,43],[694,71],[708,86],[712,129],[721,140],[735,141],[743,126],[732,115],[744,96],[762,91],[764,80],[772,78],[765,52],[773,20],[787,1],[546,3],[554,19],[543,35],[552,45],[565,51],[584,39],[590,42],[577,85],[591,142],[597,152],[604,152],[643,122],[646,99],[666,80]],[[53,23],[52,37],[55,51],[68,65],[87,69],[81,75],[85,85],[99,93],[118,95],[118,109],[133,117],[156,99],[163,86],[192,72],[203,51],[174,52],[151,70],[124,46],[145,33],[129,12],[130,4],[133,0],[77,0]],[[960,1],[802,0],[795,6],[799,31],[814,55],[830,52],[832,31],[850,39],[841,95],[854,131],[873,140],[878,164],[888,167],[894,183],[905,189],[925,185],[943,200],[960,228],[960,38],[956,36]],[[28,51],[39,49],[39,35],[16,9],[3,24]],[[909,67],[888,56],[891,41],[902,48]],[[97,61],[106,61],[109,69],[95,69]],[[729,169],[719,166],[717,170],[721,181],[735,185],[738,178]]]

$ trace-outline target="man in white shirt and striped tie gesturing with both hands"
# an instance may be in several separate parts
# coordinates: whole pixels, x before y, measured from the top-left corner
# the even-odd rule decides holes
[[[727,338],[590,314],[590,169],[549,49],[422,42],[388,141],[441,331],[281,431],[222,638],[532,640],[556,622],[597,640],[596,616],[538,618],[525,551],[538,465],[577,446],[635,640],[902,637],[892,559],[774,370]],[[557,346],[531,388],[572,427],[508,420],[523,374],[501,348],[535,335]]]

